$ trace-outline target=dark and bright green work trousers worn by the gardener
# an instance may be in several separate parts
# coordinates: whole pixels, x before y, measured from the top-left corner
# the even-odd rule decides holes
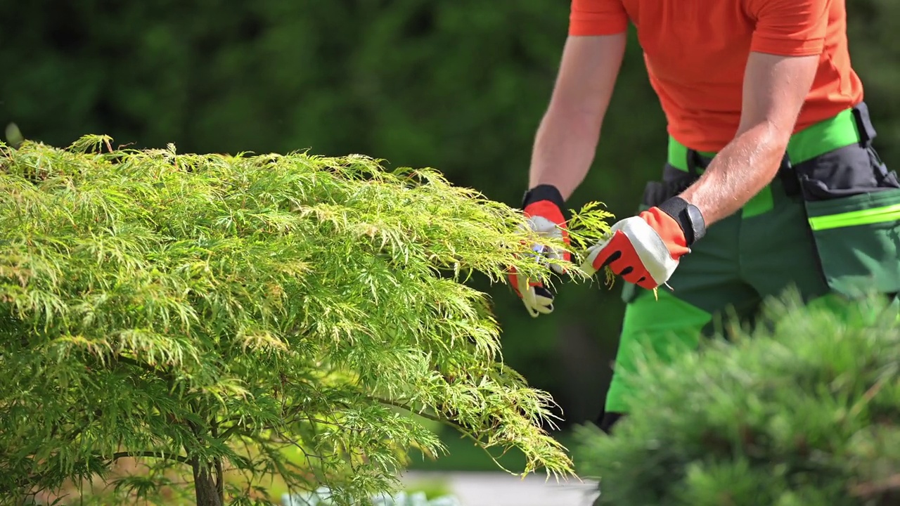
[[[627,413],[635,357],[693,350],[723,317],[751,322],[761,303],[796,290],[824,296],[900,292],[900,184],[871,146],[865,104],[805,131],[788,145],[770,185],[741,212],[718,221],[683,257],[657,297],[626,285],[626,312],[605,411]],[[642,209],[677,194],[714,153],[670,140],[662,182]],[[662,188],[668,188],[662,191]]]

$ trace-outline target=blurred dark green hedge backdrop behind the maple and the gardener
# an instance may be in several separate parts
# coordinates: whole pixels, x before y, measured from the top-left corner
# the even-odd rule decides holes
[[[900,2],[847,4],[876,147],[896,169]],[[569,3],[0,0],[0,13],[0,126],[14,122],[28,139],[65,146],[106,133],[183,152],[363,153],[435,167],[518,206]],[[631,35],[572,208],[600,201],[625,217],[662,168],[664,118]],[[619,286],[565,286],[556,312],[533,320],[507,286],[475,283],[496,304],[505,360],[553,393],[562,428],[596,420],[624,309]],[[490,467],[467,460],[470,449],[454,445],[439,465]]]

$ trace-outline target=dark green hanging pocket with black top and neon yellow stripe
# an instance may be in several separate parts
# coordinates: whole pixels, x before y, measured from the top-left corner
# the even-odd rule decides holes
[[[900,292],[900,183],[868,146],[795,167],[829,287],[858,296]]]

